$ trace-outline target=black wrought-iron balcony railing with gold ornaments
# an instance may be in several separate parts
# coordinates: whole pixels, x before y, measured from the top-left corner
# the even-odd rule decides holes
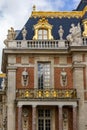
[[[18,89],[17,99],[61,99],[77,98],[76,89]]]

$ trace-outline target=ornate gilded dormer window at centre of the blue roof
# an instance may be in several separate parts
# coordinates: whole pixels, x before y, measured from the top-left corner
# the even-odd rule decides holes
[[[42,18],[34,25],[35,35],[33,40],[52,40],[52,25],[48,23],[48,20]]]

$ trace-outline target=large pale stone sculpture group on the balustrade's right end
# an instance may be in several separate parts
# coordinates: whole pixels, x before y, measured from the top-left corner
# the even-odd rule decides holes
[[[70,42],[70,44],[72,46],[82,45],[80,24],[78,23],[77,26],[75,26],[74,24],[71,24],[71,28],[69,32],[70,34],[66,38]]]

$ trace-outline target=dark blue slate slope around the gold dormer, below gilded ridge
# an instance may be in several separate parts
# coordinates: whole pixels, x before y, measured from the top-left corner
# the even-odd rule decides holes
[[[34,36],[34,25],[37,24],[38,20],[40,18],[29,18],[29,20],[27,21],[27,23],[24,25],[26,27],[27,30],[27,36],[26,36],[26,40],[32,40],[33,36]],[[64,30],[64,36],[63,39],[66,39],[66,36],[69,34],[69,29],[71,27],[71,24],[74,23],[75,25],[77,25],[78,23],[81,22],[80,18],[47,18],[48,19],[48,23],[53,25],[52,28],[52,35],[54,37],[55,40],[59,39],[59,35],[58,35],[58,30],[59,30],[59,26],[62,25],[63,26],[63,30]],[[16,37],[16,40],[22,40],[22,30],[20,31],[19,35]]]

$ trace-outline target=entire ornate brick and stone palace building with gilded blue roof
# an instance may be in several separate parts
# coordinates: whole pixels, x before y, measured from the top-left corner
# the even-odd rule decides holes
[[[4,43],[2,129],[87,130],[87,1],[70,12],[33,6],[24,27],[11,27]]]

